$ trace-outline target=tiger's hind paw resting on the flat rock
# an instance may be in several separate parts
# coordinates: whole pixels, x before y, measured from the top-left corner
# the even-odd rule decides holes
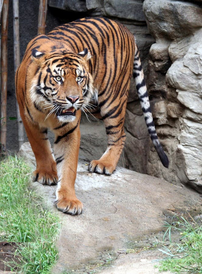
[[[111,175],[115,169],[116,167],[114,167],[112,164],[106,163],[105,161],[101,160],[92,160],[88,166],[88,170],[90,172],[106,175]]]

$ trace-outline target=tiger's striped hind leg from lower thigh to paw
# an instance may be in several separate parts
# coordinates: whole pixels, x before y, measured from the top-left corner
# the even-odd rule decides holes
[[[116,169],[126,139],[124,133],[126,103],[127,97],[122,97],[118,107],[115,106],[102,115],[108,136],[107,149],[99,160],[92,160],[89,163],[90,172],[111,175]]]

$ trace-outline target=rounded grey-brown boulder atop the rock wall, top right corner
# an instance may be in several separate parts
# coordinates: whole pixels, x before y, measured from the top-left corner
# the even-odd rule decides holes
[[[148,28],[156,39],[179,39],[202,27],[202,9],[196,4],[172,0],[145,0],[143,10]]]

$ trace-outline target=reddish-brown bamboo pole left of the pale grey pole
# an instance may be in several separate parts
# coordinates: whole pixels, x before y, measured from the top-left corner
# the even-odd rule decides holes
[[[2,40],[1,40],[1,137],[3,147],[6,145],[6,104],[7,104],[7,41],[8,41],[9,0],[3,1]]]

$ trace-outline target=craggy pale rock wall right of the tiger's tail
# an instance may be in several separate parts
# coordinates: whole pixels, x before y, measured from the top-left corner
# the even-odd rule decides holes
[[[161,165],[153,148],[147,173],[189,184],[202,192],[202,1],[145,0],[156,43],[147,78],[158,136],[170,160]]]

